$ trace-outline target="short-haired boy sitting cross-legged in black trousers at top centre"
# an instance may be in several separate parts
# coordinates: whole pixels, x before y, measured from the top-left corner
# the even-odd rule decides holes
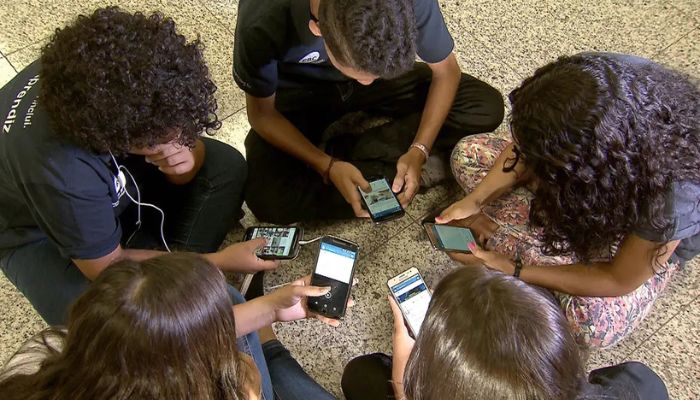
[[[437,0],[240,1],[233,72],[252,127],[253,213],[275,223],[368,217],[357,191],[369,190],[366,178],[393,180],[404,206],[438,182],[441,155],[503,119],[501,94],[462,73],[453,49]],[[391,121],[326,131],[360,111]]]

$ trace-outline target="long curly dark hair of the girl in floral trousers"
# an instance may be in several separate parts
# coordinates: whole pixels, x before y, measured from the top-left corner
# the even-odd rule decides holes
[[[513,139],[538,178],[530,221],[543,250],[587,262],[641,227],[669,237],[673,183],[700,182],[694,82],[651,62],[578,55],[538,69],[510,101]]]

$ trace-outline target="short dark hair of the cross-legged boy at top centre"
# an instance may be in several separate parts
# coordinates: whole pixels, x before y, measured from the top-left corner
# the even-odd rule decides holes
[[[389,79],[416,60],[411,0],[324,0],[319,28],[339,63]]]

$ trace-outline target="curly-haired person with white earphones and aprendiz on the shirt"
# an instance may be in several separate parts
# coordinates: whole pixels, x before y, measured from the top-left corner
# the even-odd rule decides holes
[[[115,7],[57,30],[2,88],[0,267],[46,322],[112,261],[166,243],[226,270],[276,266],[255,257],[261,241],[216,252],[246,164],[200,137],[220,126],[215,90],[198,40]]]

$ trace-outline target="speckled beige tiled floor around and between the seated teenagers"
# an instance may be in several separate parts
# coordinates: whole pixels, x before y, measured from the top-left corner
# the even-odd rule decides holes
[[[260,0],[264,1],[264,0]],[[442,0],[457,42],[462,68],[504,93],[537,66],[560,54],[584,50],[630,52],[700,77],[698,0]],[[128,10],[160,10],[188,37],[199,35],[219,86],[217,137],[243,151],[248,126],[244,97],[231,79],[235,0],[9,0],[0,2],[0,86],[37,57],[51,32],[79,12],[116,4]],[[384,300],[387,278],[409,266],[436,283],[454,265],[433,252],[421,235],[420,218],[459,196],[453,187],[420,195],[401,220],[381,226],[350,221],[307,226],[307,236],[336,234],[362,245],[354,290],[357,306],[338,329],[316,321],[277,326],[282,340],[318,381],[338,393],[343,365],[353,356],[390,350],[390,316]],[[255,219],[248,215],[246,224]],[[229,237],[236,240],[242,232]],[[269,274],[267,285],[310,272],[313,250]],[[700,265],[688,265],[651,316],[626,341],[591,355],[590,366],[624,360],[648,363],[664,378],[674,399],[700,398]],[[44,326],[27,301],[0,276],[0,361]]]

